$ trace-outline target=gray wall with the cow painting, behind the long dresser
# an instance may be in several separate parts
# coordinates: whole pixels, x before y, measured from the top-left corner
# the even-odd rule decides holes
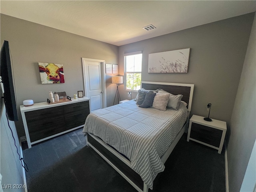
[[[4,40],[12,54],[18,109],[26,99],[46,101],[49,91],[66,91],[72,97],[84,90],[82,57],[118,64],[118,46],[1,14],[1,45]],[[65,83],[41,84],[38,62],[63,64]],[[110,79],[106,75],[107,106],[113,104],[116,90]],[[20,111],[16,127],[24,136]]]

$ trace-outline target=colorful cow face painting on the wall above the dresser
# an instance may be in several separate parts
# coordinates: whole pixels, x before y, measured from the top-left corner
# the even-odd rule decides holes
[[[62,64],[38,63],[42,84],[64,83]]]

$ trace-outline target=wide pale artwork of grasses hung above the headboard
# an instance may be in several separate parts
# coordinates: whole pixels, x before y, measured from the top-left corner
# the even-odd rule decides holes
[[[148,73],[187,73],[190,48],[148,54]]]

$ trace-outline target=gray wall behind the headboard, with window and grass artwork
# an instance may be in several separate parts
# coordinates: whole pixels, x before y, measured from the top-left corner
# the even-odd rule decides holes
[[[142,80],[194,84],[192,114],[230,123],[254,13],[119,47],[119,74],[127,52],[142,50]],[[157,29],[156,29],[157,30]],[[191,48],[187,74],[149,74],[148,54]],[[127,97],[120,86],[121,99]],[[134,94],[135,95],[135,94]]]

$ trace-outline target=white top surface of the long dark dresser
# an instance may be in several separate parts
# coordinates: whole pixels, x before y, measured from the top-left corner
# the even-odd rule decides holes
[[[34,110],[39,110],[39,109],[46,109],[46,108],[50,108],[50,107],[62,106],[62,105],[78,103],[78,102],[82,102],[82,101],[90,102],[90,98],[88,98],[88,97],[81,97],[81,98],[77,98],[77,99],[71,98],[71,101],[62,102],[62,103],[54,103],[54,104],[48,104],[47,102],[34,103],[34,105],[27,106],[27,107],[25,107],[24,105],[20,105],[20,112],[28,112],[28,111],[34,111]]]

